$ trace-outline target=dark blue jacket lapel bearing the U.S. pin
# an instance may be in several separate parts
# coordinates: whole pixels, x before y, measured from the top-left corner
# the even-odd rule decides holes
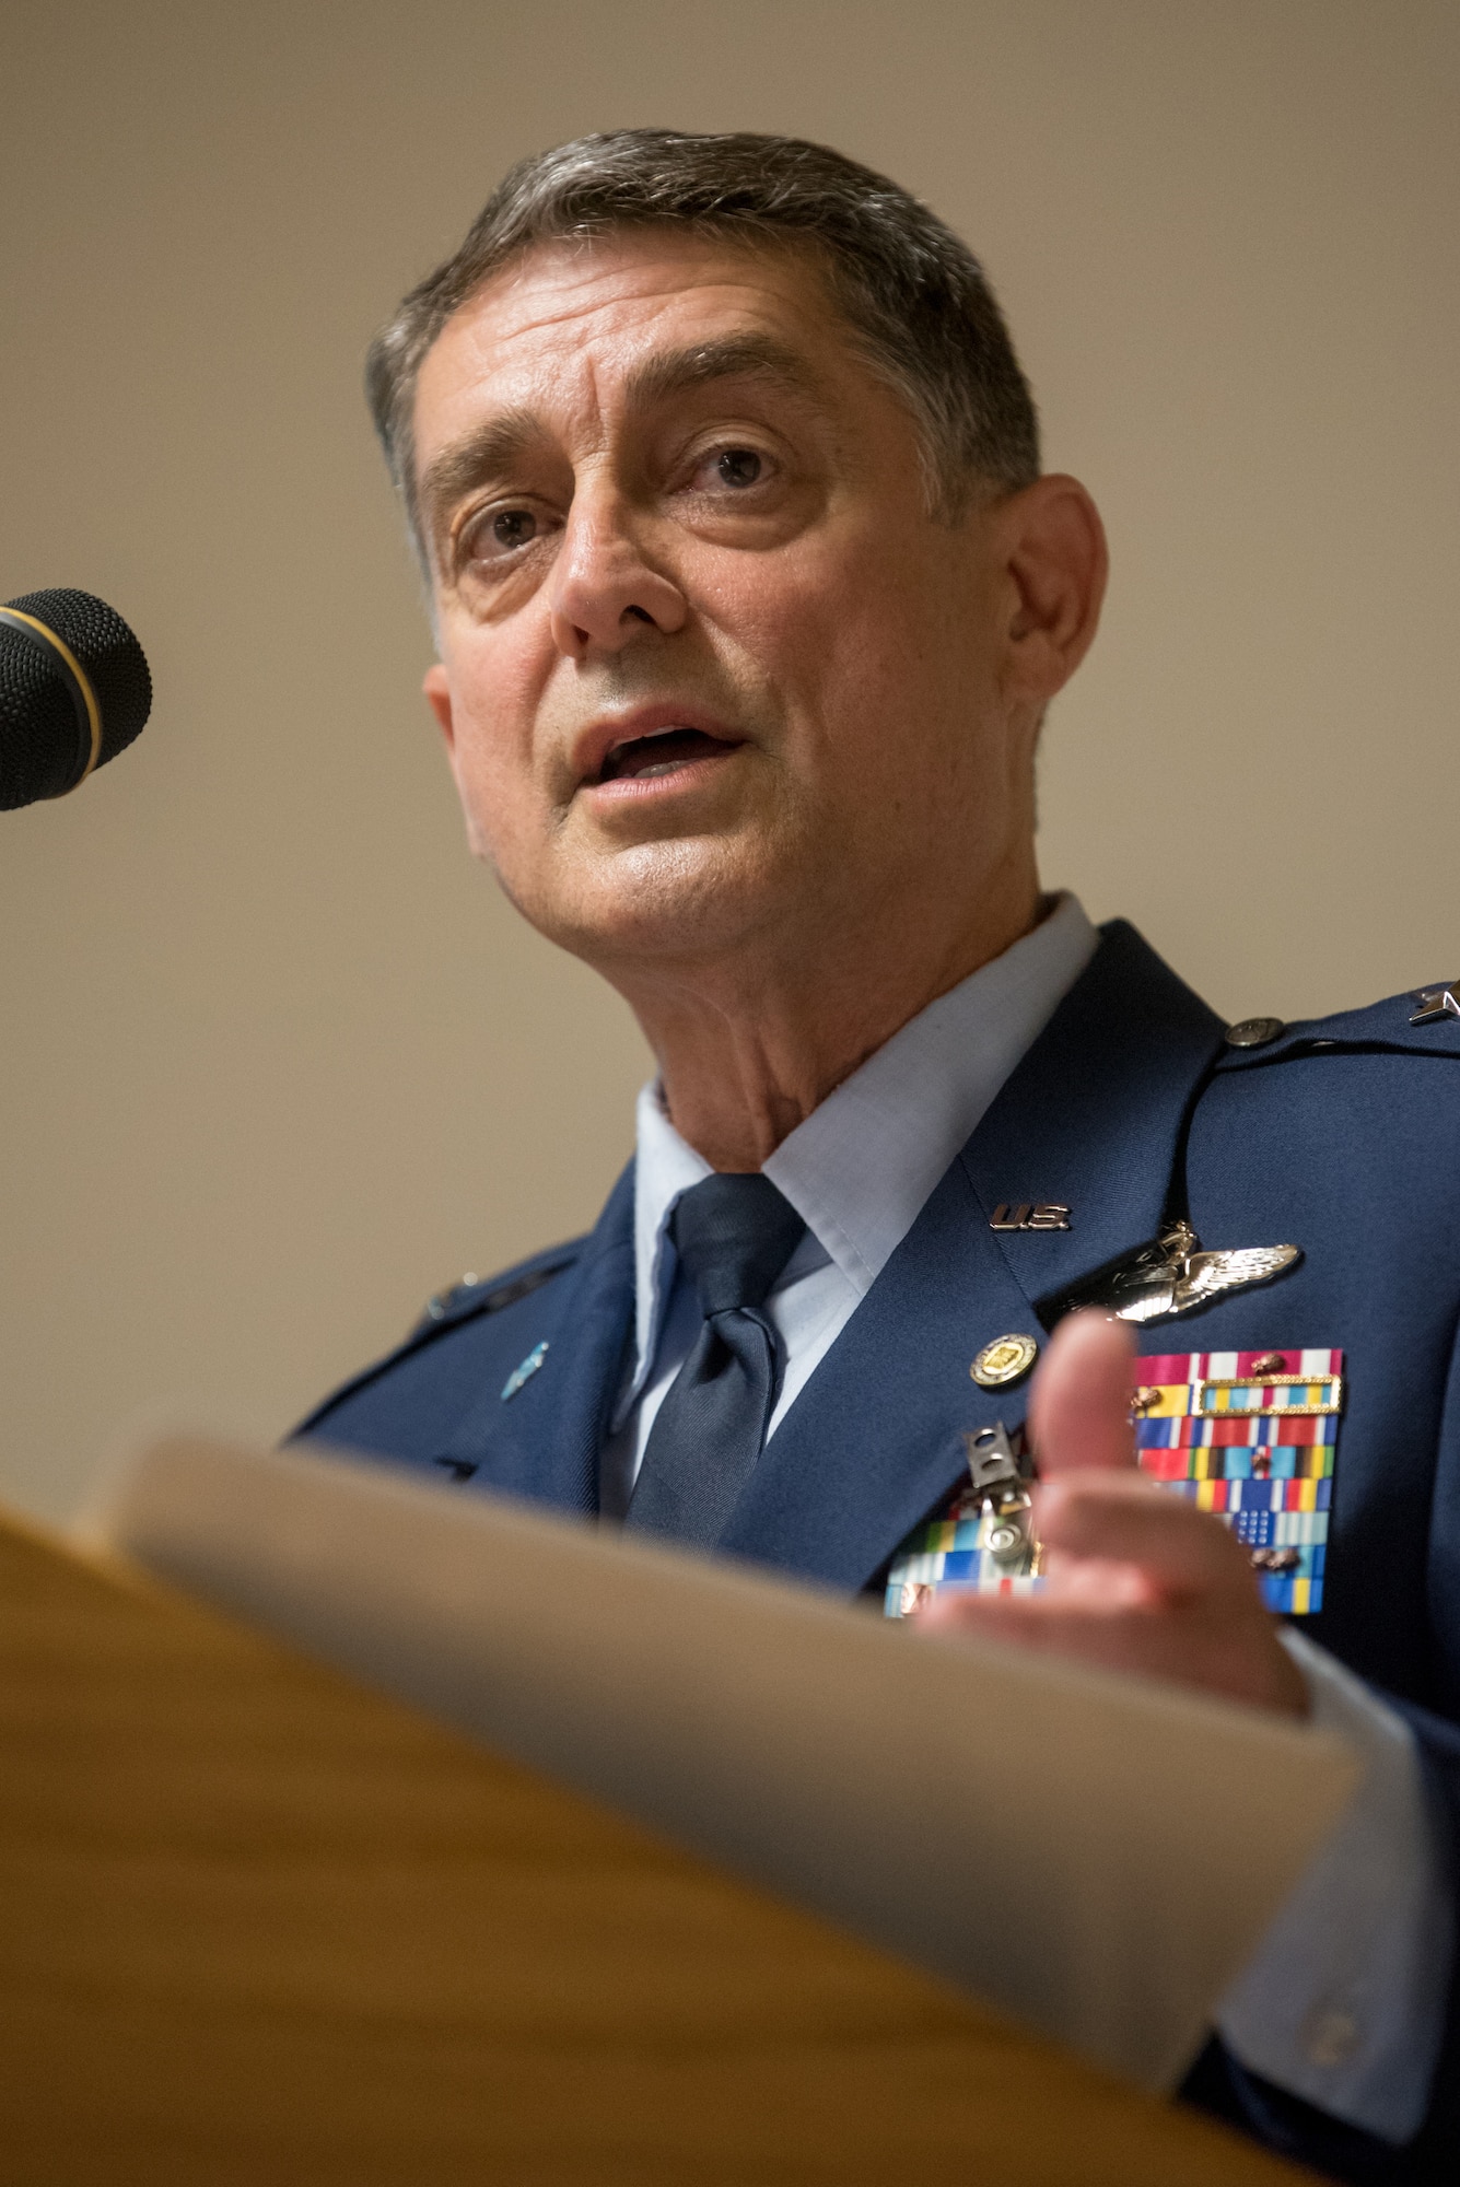
[[[959,1481],[962,1432],[1025,1415],[975,1354],[1043,1345],[1034,1299],[1161,1225],[1182,1122],[1222,1021],[1123,921],[1019,1065],[765,1448],[721,1548],[863,1588]],[[1062,1201],[1069,1231],[990,1229]]]

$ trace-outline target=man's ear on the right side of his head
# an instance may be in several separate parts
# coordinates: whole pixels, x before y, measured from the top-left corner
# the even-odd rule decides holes
[[[994,512],[1008,573],[1005,689],[1045,706],[1075,674],[1099,623],[1110,555],[1080,479],[1051,472]]]

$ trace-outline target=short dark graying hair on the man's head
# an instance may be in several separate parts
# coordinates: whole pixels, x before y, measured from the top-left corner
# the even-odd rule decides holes
[[[415,378],[446,321],[533,245],[658,225],[820,260],[861,354],[914,416],[935,514],[957,516],[977,486],[1014,492],[1038,477],[1038,418],[1003,313],[927,206],[800,138],[614,129],[520,160],[369,346],[365,391],[417,551]]]

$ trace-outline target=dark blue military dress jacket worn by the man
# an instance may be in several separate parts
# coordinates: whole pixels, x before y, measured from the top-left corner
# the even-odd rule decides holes
[[[1303,1629],[1410,1721],[1460,1850],[1460,1017],[1412,1026],[1414,1008],[1401,995],[1228,1045],[1139,934],[1108,925],[785,1415],[721,1548],[876,1588],[964,1478],[962,1432],[1023,1415],[1023,1389],[970,1380],[981,1345],[1043,1343],[1049,1301],[1174,1216],[1206,1249],[1296,1244],[1287,1273],[1141,1330],[1141,1349],[1346,1354],[1324,1597]],[[999,1203],[1025,1201],[1064,1203],[1071,1227],[990,1227]],[[629,1170],[588,1238],[433,1301],[299,1432],[466,1496],[594,1511],[632,1336],[632,1231]],[[1451,2003],[1429,2119],[1403,2152],[1272,2089],[1220,2043],[1187,2093],[1335,2176],[1449,2183],[1458,2082]]]

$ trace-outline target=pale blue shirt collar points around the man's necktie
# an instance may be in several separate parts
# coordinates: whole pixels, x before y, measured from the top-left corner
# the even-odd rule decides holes
[[[859,1297],[1091,962],[1097,940],[1078,899],[1056,897],[1032,934],[909,1019],[769,1157],[765,1174]],[[669,1122],[658,1083],[647,1085],[638,1096],[634,1168],[638,1358],[625,1404],[647,1380],[673,1288],[669,1216],[708,1174],[708,1161]],[[813,1258],[820,1262],[822,1253]],[[787,1273],[800,1275],[806,1264],[798,1251]]]

